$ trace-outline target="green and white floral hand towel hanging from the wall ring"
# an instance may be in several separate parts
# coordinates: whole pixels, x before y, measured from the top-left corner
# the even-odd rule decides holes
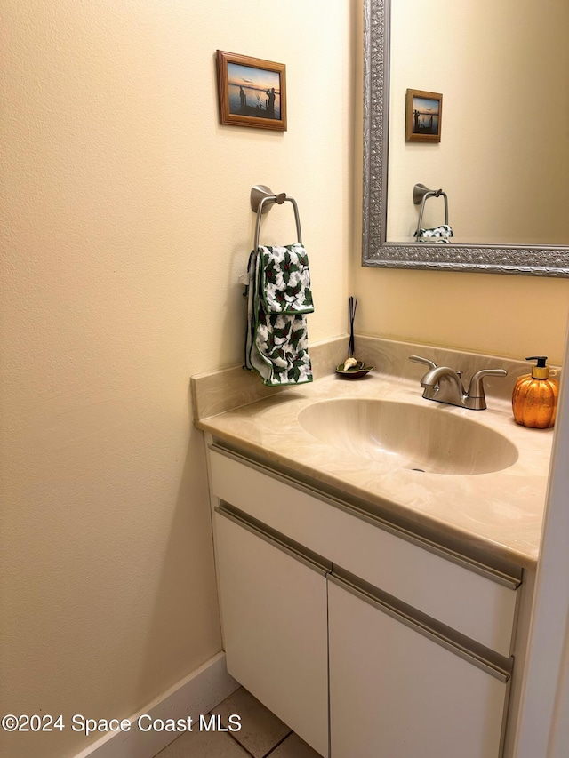
[[[249,257],[245,368],[272,387],[312,381],[306,314],[309,257],[301,243],[261,246]]]

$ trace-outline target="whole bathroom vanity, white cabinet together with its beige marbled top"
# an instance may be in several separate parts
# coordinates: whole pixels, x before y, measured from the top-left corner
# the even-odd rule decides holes
[[[384,371],[363,381],[212,415],[220,377],[193,380],[228,671],[323,756],[508,756],[552,434],[492,385],[487,411],[429,403],[416,346],[367,349]]]

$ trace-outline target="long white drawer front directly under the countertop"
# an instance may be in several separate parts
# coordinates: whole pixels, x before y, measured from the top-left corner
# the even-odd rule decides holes
[[[336,566],[397,597],[470,639],[509,657],[515,578],[472,570],[445,549],[421,547],[349,503],[212,446],[212,495]],[[451,560],[452,557],[452,560]]]

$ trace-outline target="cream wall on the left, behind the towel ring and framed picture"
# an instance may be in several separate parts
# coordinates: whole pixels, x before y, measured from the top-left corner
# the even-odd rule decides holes
[[[256,183],[299,203],[311,341],[346,330],[352,12],[3,3],[3,710],[128,716],[220,650],[189,377],[242,359]],[[217,48],[286,64],[288,132],[218,124]]]

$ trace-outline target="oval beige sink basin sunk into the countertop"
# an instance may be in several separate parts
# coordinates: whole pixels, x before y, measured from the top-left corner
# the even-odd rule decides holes
[[[320,442],[382,464],[386,473],[490,474],[516,462],[507,437],[459,414],[441,403],[346,398],[309,405],[298,419]]]

